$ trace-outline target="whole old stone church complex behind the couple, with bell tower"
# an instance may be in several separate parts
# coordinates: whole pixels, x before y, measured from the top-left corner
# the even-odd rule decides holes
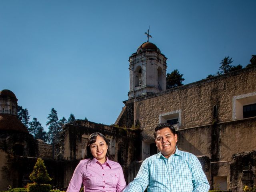
[[[178,130],[178,148],[198,157],[211,189],[240,192],[256,184],[256,66],[166,90],[166,61],[155,44],[139,46],[129,58],[128,100],[116,122],[64,125],[54,156],[52,146],[34,140],[18,120],[15,94],[0,91],[0,190],[30,182],[39,157],[52,184],[67,187],[93,132],[106,136],[128,183],[142,161],[158,152],[153,135],[160,122]]]

